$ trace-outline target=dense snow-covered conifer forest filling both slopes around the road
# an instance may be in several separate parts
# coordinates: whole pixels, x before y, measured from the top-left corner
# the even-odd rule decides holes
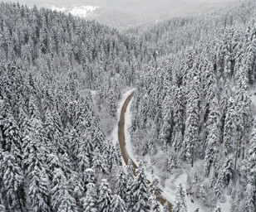
[[[131,88],[135,176],[112,141]],[[155,188],[256,210],[256,2],[125,32],[0,3],[0,211],[169,211]]]

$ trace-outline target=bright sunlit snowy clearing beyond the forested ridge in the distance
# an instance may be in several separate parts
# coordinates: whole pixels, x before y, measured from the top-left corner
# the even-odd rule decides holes
[[[56,7],[54,5],[48,5],[48,7],[52,10],[56,10],[57,12],[64,12],[64,13],[71,13],[71,15],[76,17],[88,17],[88,15],[91,14],[91,12],[94,12],[97,8],[96,6],[76,6],[71,8],[66,7]]]

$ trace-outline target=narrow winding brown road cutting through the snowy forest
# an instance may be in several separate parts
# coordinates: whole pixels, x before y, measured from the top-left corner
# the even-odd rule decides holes
[[[126,162],[126,165],[130,158],[126,151],[126,135],[125,135],[126,109],[127,109],[127,106],[130,104],[130,100],[133,98],[134,94],[135,94],[135,91],[133,91],[127,97],[125,103],[123,104],[123,106],[121,108],[119,123],[118,123],[118,140],[119,140],[119,145],[120,145],[120,149],[121,149],[121,156],[123,157],[124,161]],[[131,158],[130,158],[130,160],[132,161],[133,173],[135,175],[135,170],[138,168],[138,166],[136,166],[135,162]],[[150,181],[148,181],[148,184],[150,184]],[[157,200],[160,202],[161,205],[164,205],[165,202],[167,201],[168,205],[169,205],[169,210],[171,211],[172,204],[170,203],[170,201],[166,200],[164,197],[159,197],[159,198],[157,198]]]

